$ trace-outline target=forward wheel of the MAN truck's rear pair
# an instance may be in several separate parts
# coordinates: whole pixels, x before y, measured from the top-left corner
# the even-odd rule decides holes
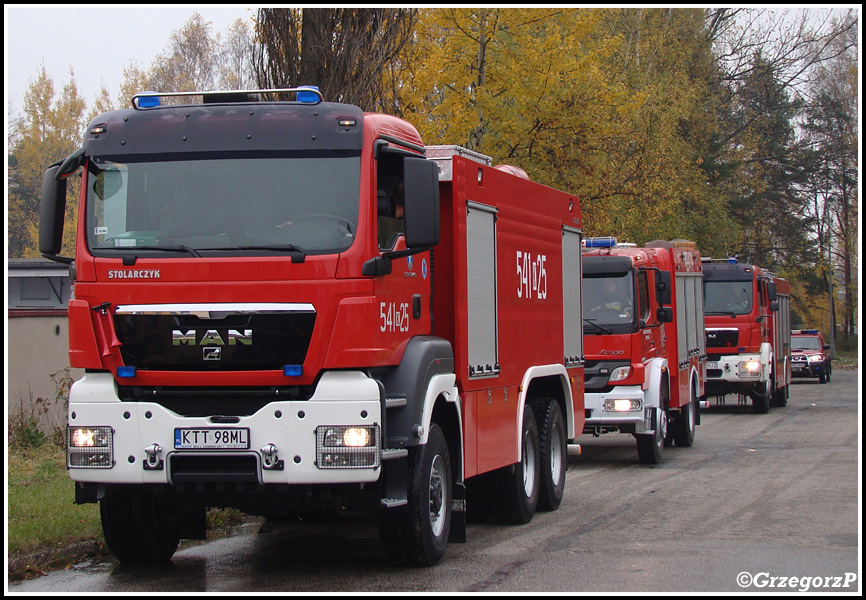
[[[493,473],[494,520],[523,525],[532,520],[538,508],[541,460],[538,425],[529,406],[523,408],[521,460]]]

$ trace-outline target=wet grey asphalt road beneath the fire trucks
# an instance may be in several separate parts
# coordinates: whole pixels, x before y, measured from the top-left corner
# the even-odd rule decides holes
[[[169,567],[88,562],[9,584],[52,592],[553,592],[859,594],[856,371],[795,380],[756,415],[727,397],[691,448],[641,466],[631,436],[583,436],[559,510],[528,525],[470,524],[429,569],[387,565],[360,516],[265,524],[180,550]]]

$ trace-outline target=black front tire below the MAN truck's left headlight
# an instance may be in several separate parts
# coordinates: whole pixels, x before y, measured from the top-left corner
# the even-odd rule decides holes
[[[121,564],[167,563],[180,543],[181,516],[141,486],[109,485],[99,514],[105,543]]]

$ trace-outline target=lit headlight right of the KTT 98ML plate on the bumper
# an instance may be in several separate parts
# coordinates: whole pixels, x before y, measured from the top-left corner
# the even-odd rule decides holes
[[[329,425],[316,428],[316,466],[364,469],[379,466],[378,425]]]

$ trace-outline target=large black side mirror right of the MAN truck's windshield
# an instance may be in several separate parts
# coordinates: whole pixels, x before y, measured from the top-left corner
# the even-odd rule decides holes
[[[439,170],[424,158],[403,160],[406,247],[439,243]]]

